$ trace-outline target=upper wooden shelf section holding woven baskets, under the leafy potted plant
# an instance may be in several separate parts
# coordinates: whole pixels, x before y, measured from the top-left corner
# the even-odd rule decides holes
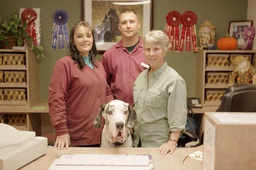
[[[2,58],[0,71],[3,72],[3,76],[6,76],[7,72],[21,72],[25,75],[23,82],[4,80],[0,83],[0,89],[4,89],[5,92],[5,100],[0,100],[0,105],[27,105],[29,107],[37,103],[39,101],[38,64],[34,52],[31,49],[19,51],[0,49],[0,54]],[[13,59],[10,59],[9,57],[12,56]],[[11,79],[15,79],[15,76]],[[14,95],[15,93],[18,97]]]

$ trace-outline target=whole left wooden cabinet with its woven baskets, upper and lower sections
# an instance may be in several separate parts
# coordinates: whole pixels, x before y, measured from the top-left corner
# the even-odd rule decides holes
[[[7,61],[5,56],[17,56],[17,58],[15,61],[12,59]],[[22,76],[17,78],[17,74]],[[22,124],[20,127],[14,127],[20,130],[35,131],[36,135],[41,135],[41,114],[38,112],[39,110],[35,110],[35,112],[32,110],[32,106],[39,102],[38,62],[33,50],[0,49],[0,76],[2,76],[2,79],[0,78],[2,80],[0,81],[0,95],[2,97],[6,90],[22,93],[22,95],[16,94],[20,97],[16,100],[13,100],[12,94],[8,96],[5,94],[4,98],[0,97],[2,121],[4,117],[10,116],[7,114],[23,114],[21,117],[23,117],[23,121],[25,119],[25,126]],[[14,115],[13,117],[17,116]]]

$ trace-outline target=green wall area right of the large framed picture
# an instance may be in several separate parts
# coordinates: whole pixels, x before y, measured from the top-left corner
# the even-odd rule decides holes
[[[247,0],[155,0],[154,29],[164,29],[165,16],[170,11],[193,11],[198,16],[196,32],[204,21],[210,21],[215,29],[215,41],[228,32],[230,20],[247,19]],[[198,37],[199,41],[199,37]],[[189,84],[188,97],[195,96],[196,53],[168,52],[166,61]]]

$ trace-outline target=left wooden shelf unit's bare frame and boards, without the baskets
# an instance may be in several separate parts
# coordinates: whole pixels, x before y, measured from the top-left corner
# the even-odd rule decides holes
[[[26,89],[26,101],[0,101],[0,114],[26,114],[26,130],[34,131],[37,136],[41,135],[41,112],[42,110],[33,110],[39,102],[39,81],[38,81],[38,63],[35,53],[32,49],[12,50],[0,49],[1,54],[17,53],[24,54],[26,65],[0,65],[0,70],[25,70],[26,83],[0,83],[0,88],[23,88]],[[45,105],[45,104],[44,104]],[[48,112],[49,109],[45,109]],[[15,127],[15,126],[14,126]],[[17,127],[16,127],[17,128]]]

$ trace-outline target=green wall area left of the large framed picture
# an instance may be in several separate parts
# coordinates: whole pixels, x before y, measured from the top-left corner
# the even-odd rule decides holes
[[[45,58],[38,60],[39,69],[39,90],[40,99],[47,100],[48,86],[52,76],[52,68],[55,62],[68,54],[68,50],[51,49],[52,42],[52,12],[58,8],[65,9],[69,14],[69,30],[80,20],[80,0],[1,0],[0,17],[6,20],[11,8],[19,12],[20,8],[40,8],[41,9],[41,45],[44,46]]]

